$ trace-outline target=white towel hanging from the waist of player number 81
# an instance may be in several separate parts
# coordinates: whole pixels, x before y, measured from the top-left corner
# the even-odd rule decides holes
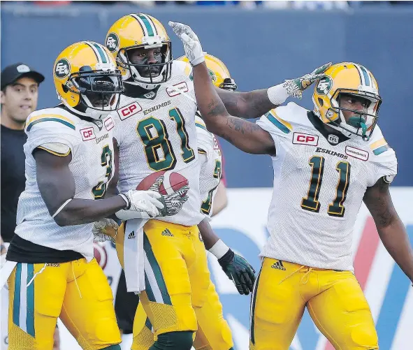
[[[126,221],[123,245],[126,289],[129,292],[145,291],[145,251],[143,251],[143,226],[148,219]]]

